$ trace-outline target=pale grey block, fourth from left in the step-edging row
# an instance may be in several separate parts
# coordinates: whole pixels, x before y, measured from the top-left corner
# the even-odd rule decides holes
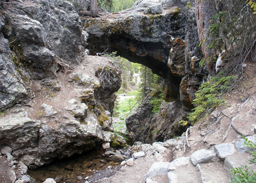
[[[224,160],[227,156],[233,155],[235,153],[235,147],[233,144],[218,144],[214,145],[214,151],[217,153],[221,160]]]

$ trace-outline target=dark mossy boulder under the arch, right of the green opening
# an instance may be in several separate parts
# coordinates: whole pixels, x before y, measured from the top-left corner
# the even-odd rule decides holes
[[[135,140],[153,143],[183,133],[186,127],[180,126],[178,122],[188,111],[182,109],[182,102],[163,101],[159,113],[154,116],[149,102],[150,97],[144,98],[142,104],[125,120],[126,127],[135,135]]]

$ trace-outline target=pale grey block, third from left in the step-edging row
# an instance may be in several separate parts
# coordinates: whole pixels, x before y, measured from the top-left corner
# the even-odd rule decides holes
[[[192,153],[191,161],[193,165],[196,166],[198,163],[207,163],[209,161],[212,161],[215,157],[216,154],[214,151],[200,149]]]

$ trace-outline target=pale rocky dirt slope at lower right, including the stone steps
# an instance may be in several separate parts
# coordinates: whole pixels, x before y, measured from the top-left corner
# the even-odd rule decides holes
[[[148,177],[147,183],[228,183],[230,168],[247,165],[255,170],[256,167],[248,163],[250,156],[243,148],[241,135],[251,136],[248,138],[252,141],[256,137],[256,64],[246,63],[245,70],[241,85],[227,94],[227,105],[190,128],[190,147],[184,145],[185,136],[147,145],[150,153],[145,144],[141,145],[143,148],[133,147],[144,151],[146,156],[135,159],[132,166],[120,167],[108,178],[96,174],[88,181],[144,183]]]

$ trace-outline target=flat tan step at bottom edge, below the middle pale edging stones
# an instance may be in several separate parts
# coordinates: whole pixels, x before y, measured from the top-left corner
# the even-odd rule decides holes
[[[197,164],[199,183],[228,183],[230,177],[223,164],[219,159],[216,162]]]

